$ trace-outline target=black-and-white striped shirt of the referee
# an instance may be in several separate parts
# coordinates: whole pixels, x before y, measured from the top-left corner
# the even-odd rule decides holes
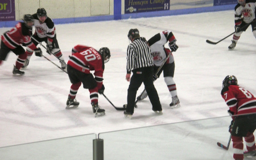
[[[144,68],[154,65],[154,60],[150,54],[150,47],[146,43],[144,37],[135,39],[127,48],[127,73],[131,70]]]

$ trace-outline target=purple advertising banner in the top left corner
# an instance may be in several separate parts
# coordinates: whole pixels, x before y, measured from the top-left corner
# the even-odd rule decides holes
[[[15,0],[0,1],[0,22],[15,20]]]

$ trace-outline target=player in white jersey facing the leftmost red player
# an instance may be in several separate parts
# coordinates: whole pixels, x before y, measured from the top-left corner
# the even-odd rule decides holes
[[[36,14],[33,14],[32,16],[34,18],[35,23],[35,33],[32,37],[34,37],[39,42],[44,41],[47,44],[47,48],[50,52],[49,54],[55,54],[55,56],[60,59],[61,68],[66,69],[67,65],[65,64],[64,58],[59,48],[59,44],[56,37],[56,29],[54,23],[52,22],[52,19],[47,16],[47,12],[43,8],[38,9]],[[32,43],[38,45],[38,42],[36,42],[34,39],[31,40]],[[32,50],[31,48],[27,48],[27,60],[23,68],[27,68],[33,51],[34,50]]]

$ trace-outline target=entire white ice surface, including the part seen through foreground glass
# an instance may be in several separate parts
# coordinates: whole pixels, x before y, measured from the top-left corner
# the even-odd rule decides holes
[[[14,76],[17,57],[10,53],[0,66],[0,159],[92,159],[96,136],[90,133],[100,133],[104,139],[104,159],[233,159],[232,142],[229,150],[217,146],[217,142],[228,144],[232,120],[220,92],[226,75],[236,75],[240,86],[256,94],[256,40],[251,27],[242,33],[236,48],[228,50],[232,36],[216,45],[205,40],[218,41],[234,32],[233,10],[56,25],[66,62],[77,44],[110,49],[104,94],[116,107],[127,103],[130,28],[138,28],[146,39],[164,30],[174,33],[179,46],[173,53],[174,80],[181,107],[169,107],[171,95],[161,74],[154,84],[163,115],[155,115],[146,98],[137,103],[132,119],[125,119],[123,111],[115,110],[99,95],[106,115],[96,118],[89,91],[82,86],[76,96],[80,106],[65,110],[71,86],[68,75],[33,54],[25,74]],[[0,33],[7,30],[10,28],[0,28]],[[41,49],[44,56],[60,65]],[[142,85],[137,95],[143,89]],[[89,135],[80,136],[85,134]]]

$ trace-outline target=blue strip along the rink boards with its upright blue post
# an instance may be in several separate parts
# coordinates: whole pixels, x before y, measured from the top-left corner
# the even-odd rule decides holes
[[[129,19],[129,18],[143,18],[153,16],[169,16],[169,15],[181,15],[181,14],[193,14],[200,12],[213,12],[213,11],[224,11],[234,10],[236,5],[223,5],[213,7],[201,7],[195,9],[183,9],[183,10],[169,10],[169,11],[155,11],[155,12],[139,12],[134,14],[121,14],[121,1],[114,0],[114,15],[102,15],[102,16],[88,16],[79,18],[60,18],[53,19],[55,24],[65,23],[82,23],[82,22],[97,22],[105,20],[118,20],[118,19]],[[0,27],[14,27],[19,21],[5,21],[0,22]]]

